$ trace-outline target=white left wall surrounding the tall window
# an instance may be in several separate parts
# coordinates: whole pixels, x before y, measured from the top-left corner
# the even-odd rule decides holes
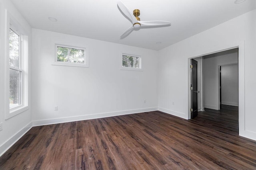
[[[0,0],[0,122],[3,123],[3,130],[0,131],[0,155],[8,149],[17,139],[19,139],[30,127],[31,124],[31,110],[28,109],[10,119],[5,120],[5,110],[4,106],[5,98],[4,94],[6,93],[5,85],[7,84],[5,81],[5,10],[8,10],[9,14],[19,22],[19,25],[23,27],[23,29],[28,33],[29,37],[29,47],[31,47],[31,27],[30,25],[24,20],[24,18],[19,14],[18,10],[13,6],[10,0]],[[28,69],[30,71],[30,50],[28,51]],[[8,59],[9,60],[9,59]],[[31,76],[28,74],[28,105],[31,106]],[[9,110],[7,110],[9,111]]]

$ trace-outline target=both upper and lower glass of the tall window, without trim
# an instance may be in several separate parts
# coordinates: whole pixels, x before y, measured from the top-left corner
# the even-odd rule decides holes
[[[10,66],[10,109],[21,105],[21,48],[20,34],[10,28],[9,34],[9,66]]]

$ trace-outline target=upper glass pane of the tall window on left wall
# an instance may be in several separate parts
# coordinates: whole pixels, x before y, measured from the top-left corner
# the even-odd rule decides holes
[[[19,68],[20,57],[19,57],[19,43],[20,36],[10,29],[10,59],[9,64],[11,67]]]

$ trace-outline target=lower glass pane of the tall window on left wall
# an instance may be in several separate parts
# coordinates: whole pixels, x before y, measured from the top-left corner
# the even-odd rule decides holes
[[[20,103],[21,71],[10,68],[10,108],[19,106]]]

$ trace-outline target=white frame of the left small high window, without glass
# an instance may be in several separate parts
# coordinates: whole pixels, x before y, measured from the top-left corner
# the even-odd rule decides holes
[[[57,47],[65,47],[65,48],[72,48],[72,49],[79,49],[84,50],[84,63],[67,63],[58,61],[57,56]],[[55,44],[55,54],[54,54],[54,63],[52,65],[58,65],[58,66],[76,66],[76,67],[89,67],[89,57],[88,57],[88,48],[82,48],[82,47],[75,47],[70,45],[62,45],[62,44]]]

